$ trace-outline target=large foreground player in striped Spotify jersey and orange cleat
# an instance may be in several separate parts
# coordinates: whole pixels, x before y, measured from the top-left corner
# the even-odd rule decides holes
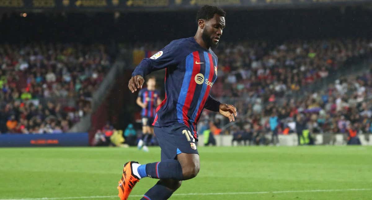
[[[196,124],[203,109],[216,111],[234,121],[236,109],[212,98],[209,93],[217,79],[217,47],[225,27],[225,11],[216,6],[203,6],[197,13],[198,30],[194,37],[173,40],[136,67],[129,80],[129,90],[142,88],[143,77],[166,69],[166,96],[157,107],[154,132],[161,148],[161,161],[124,165],[119,180],[119,197],[126,200],[135,184],[150,177],[160,179],[142,200],[168,199],[183,180],[192,179],[200,169],[196,149]]]

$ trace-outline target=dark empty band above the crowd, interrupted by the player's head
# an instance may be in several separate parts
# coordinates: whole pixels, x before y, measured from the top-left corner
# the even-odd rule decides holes
[[[222,41],[370,37],[372,11],[363,7],[227,10]],[[170,41],[195,34],[195,11],[2,14],[0,42]],[[47,27],[47,29],[46,29]]]

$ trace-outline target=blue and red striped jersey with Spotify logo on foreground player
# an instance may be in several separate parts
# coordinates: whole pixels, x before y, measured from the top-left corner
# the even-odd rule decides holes
[[[196,124],[204,108],[218,111],[219,102],[210,96],[217,79],[218,59],[193,37],[173,40],[136,67],[132,76],[145,77],[153,71],[165,71],[165,99],[157,107],[153,126],[182,123],[197,139]],[[216,109],[217,107],[217,109]]]

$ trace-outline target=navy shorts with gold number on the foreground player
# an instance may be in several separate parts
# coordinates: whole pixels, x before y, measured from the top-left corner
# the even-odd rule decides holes
[[[161,160],[175,159],[180,153],[198,153],[195,138],[189,127],[177,123],[166,127],[154,127],[161,148]]]

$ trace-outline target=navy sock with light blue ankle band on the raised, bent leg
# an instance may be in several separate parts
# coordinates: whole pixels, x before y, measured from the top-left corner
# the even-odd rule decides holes
[[[145,170],[144,170],[145,169]],[[138,167],[141,177],[154,179],[176,179],[183,180],[182,167],[178,160],[163,160],[156,163],[148,163]]]

